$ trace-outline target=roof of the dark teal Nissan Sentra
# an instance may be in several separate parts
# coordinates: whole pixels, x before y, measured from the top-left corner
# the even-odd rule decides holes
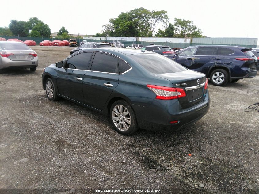
[[[116,47],[87,48],[87,49],[82,49],[81,51],[102,51],[102,52],[108,52],[110,54],[124,54],[124,55],[157,54],[151,51],[142,51],[137,49],[116,48]]]

